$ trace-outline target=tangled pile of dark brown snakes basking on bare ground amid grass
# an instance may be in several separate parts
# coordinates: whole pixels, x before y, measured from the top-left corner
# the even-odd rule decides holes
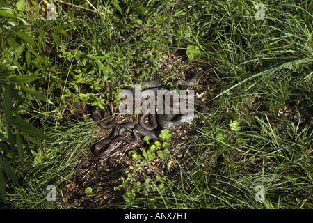
[[[195,72],[188,71],[188,73],[192,75],[191,78],[182,80],[179,79],[174,82],[175,86],[179,87],[179,89],[187,89],[188,87],[192,86],[193,84],[196,84],[199,80],[199,75],[196,74]],[[168,89],[164,89],[161,86],[161,79],[155,79],[153,81],[148,81],[148,82],[141,82],[141,85],[143,85],[146,90],[149,90],[152,93],[164,93],[168,92]],[[131,94],[134,97],[130,98],[135,98],[136,91],[135,89],[127,86],[125,89],[128,90],[128,92],[131,92]],[[188,91],[191,92],[191,91]],[[161,102],[163,101],[163,96],[158,97],[158,102],[161,98]],[[121,98],[122,100],[123,98]],[[172,105],[173,107],[170,107],[170,113],[164,112],[163,105],[162,108],[160,109],[159,107],[157,108],[157,111],[155,111],[155,107],[153,108],[155,112],[142,112],[138,118],[138,124],[137,123],[121,123],[118,125],[117,123],[114,123],[115,119],[120,115],[118,113],[113,114],[113,105],[107,106],[107,109],[95,109],[93,112],[93,120],[99,125],[101,128],[106,129],[106,130],[111,130],[111,133],[109,134],[108,137],[105,139],[102,139],[95,144],[94,147],[94,153],[97,157],[105,157],[108,156],[109,154],[113,153],[115,151],[115,148],[120,141],[124,141],[127,144],[136,144],[138,142],[138,134],[141,136],[149,136],[151,139],[158,140],[159,139],[159,134],[161,130],[163,129],[168,129],[172,130],[175,128],[179,128],[180,125],[182,125],[185,122],[190,122],[193,119],[200,118],[200,116],[203,116],[204,114],[207,113],[207,107],[202,102],[202,100],[194,97],[193,94],[188,93],[188,95],[178,95],[178,102],[182,102],[183,100],[186,99],[193,99],[193,106],[189,106],[189,109],[194,109],[194,111],[189,112],[188,114],[177,114],[173,112],[173,107],[175,107],[175,102],[172,100]],[[140,104],[143,105],[144,102],[147,101],[145,98],[141,98]],[[157,104],[157,103],[156,103]],[[151,104],[150,104],[151,105]],[[154,105],[154,104],[153,104]],[[186,106],[185,104],[183,104]],[[182,103],[177,104],[179,109],[182,109]],[[166,107],[166,104],[165,104]],[[168,107],[167,107],[168,108]],[[162,110],[162,111],[160,111]],[[151,111],[151,110],[150,110]],[[153,110],[152,110],[153,111]],[[145,120],[149,120],[149,125],[145,123]],[[125,132],[131,132],[132,137],[128,138],[125,136]]]

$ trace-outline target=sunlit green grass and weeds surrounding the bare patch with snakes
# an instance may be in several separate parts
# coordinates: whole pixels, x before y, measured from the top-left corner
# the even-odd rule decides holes
[[[159,174],[165,192],[157,187],[160,180],[151,180],[156,190],[115,207],[313,208],[312,1],[262,1],[266,20],[255,19],[257,1],[179,1],[174,6],[174,1],[143,1],[140,7],[121,2],[119,13],[97,1],[116,15],[69,8],[59,17],[58,25],[71,25],[64,28],[69,36],[59,35],[62,47],[54,53],[40,52],[49,61],[43,62],[40,88],[54,105],[33,108],[33,120],[54,141],[25,145],[25,166],[13,163],[21,185],[9,186],[6,206],[69,208],[61,197],[47,202],[46,187],[70,182],[74,157],[81,149],[86,152],[83,146],[95,126],[65,120],[63,89],[65,101],[90,94],[85,102],[97,105],[95,98],[103,98],[106,87],[86,80],[90,77],[113,88],[155,76],[170,82],[192,66],[202,70],[204,83],[214,82],[207,84],[210,114],[198,128],[200,137],[177,148],[193,145],[193,150],[177,160],[175,178]],[[28,13],[35,26],[38,14]],[[192,60],[186,56],[188,45],[200,49]],[[51,45],[42,42],[40,50],[45,47]],[[230,128],[234,120],[241,130]],[[33,167],[31,149],[56,155]],[[255,200],[257,185],[265,188],[264,202]]]

